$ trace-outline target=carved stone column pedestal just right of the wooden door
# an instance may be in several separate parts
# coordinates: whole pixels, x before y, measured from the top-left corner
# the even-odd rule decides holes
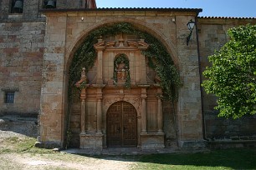
[[[141,134],[142,149],[165,148],[164,133]]]

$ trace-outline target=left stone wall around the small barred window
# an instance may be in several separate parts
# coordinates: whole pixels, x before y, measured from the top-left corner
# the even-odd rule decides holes
[[[0,23],[0,112],[38,113],[44,32],[44,22]],[[14,103],[5,103],[8,91]]]

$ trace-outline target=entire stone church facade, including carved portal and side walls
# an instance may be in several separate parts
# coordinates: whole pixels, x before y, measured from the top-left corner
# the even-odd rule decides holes
[[[256,139],[255,117],[217,117],[216,98],[200,86],[207,56],[228,42],[228,28],[255,24],[255,18],[202,18],[197,8],[96,8],[95,1],[19,2],[22,7],[0,3],[0,113],[38,114],[44,147],[69,141],[75,148],[200,148]],[[197,28],[187,45],[190,20]],[[177,102],[162,99],[143,54],[146,39],[125,33],[102,35],[93,44],[94,67],[81,68],[73,87],[80,91],[70,101],[74,53],[91,32],[115,23],[131,23],[166,47],[181,77]],[[115,64],[119,57],[129,67]]]

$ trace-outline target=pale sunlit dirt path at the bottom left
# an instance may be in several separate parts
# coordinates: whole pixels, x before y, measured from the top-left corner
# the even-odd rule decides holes
[[[0,154],[0,159],[5,165],[0,168],[43,170],[43,169],[86,169],[86,170],[128,170],[134,167],[135,163],[113,160],[106,158],[88,158],[84,156],[67,156],[69,161],[59,158],[63,155],[31,155],[31,154]]]

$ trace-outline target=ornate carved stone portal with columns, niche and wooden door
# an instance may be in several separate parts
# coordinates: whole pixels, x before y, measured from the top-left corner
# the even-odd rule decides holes
[[[83,68],[76,83],[79,148],[164,148],[161,87],[141,53],[148,44],[119,34],[100,37],[94,47],[95,66]]]

